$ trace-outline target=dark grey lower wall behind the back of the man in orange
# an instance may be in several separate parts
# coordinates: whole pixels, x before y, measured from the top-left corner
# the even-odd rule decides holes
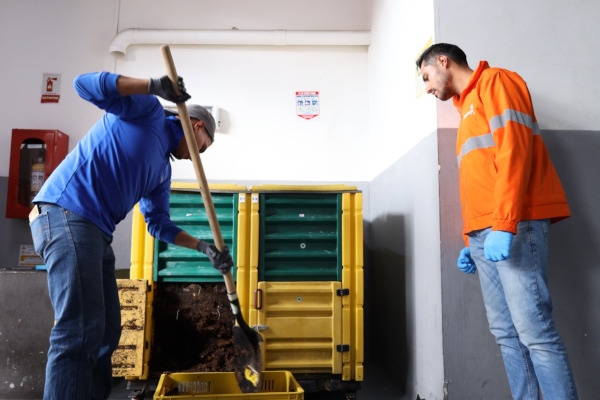
[[[582,399],[600,381],[600,133],[544,131],[542,137],[567,194],[571,217],[552,225],[549,285],[554,320]]]

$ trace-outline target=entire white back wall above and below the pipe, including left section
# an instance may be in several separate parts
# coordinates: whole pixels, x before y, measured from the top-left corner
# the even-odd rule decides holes
[[[12,128],[60,129],[70,147],[101,115],[80,100],[73,78],[109,70],[134,76],[165,73],[158,46],[130,47],[114,59],[118,31],[155,29],[369,30],[370,0],[112,2],[62,0],[36,4],[0,0],[0,49],[14,62],[0,99],[0,146]],[[19,38],[19,40],[10,40]],[[365,180],[369,130],[367,46],[173,46],[175,62],[194,101],[222,108],[224,131],[203,157],[207,177],[218,180]],[[40,104],[44,72],[61,73],[59,104]],[[319,91],[321,114],[296,116],[295,92]],[[8,175],[8,151],[0,175]],[[175,179],[194,179],[177,162]]]

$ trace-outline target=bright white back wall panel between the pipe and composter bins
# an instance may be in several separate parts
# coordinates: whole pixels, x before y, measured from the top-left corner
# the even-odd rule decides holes
[[[367,48],[171,46],[190,102],[217,105],[223,132],[202,155],[219,180],[365,180]],[[163,74],[158,46],[134,46],[117,72]],[[297,91],[318,91],[320,115],[296,115]],[[195,179],[190,161],[174,179]]]

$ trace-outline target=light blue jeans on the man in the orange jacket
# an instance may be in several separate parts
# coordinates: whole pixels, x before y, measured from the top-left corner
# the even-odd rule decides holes
[[[500,346],[515,399],[577,399],[565,346],[552,320],[548,289],[548,220],[521,221],[510,258],[485,258],[483,243],[490,228],[469,233],[490,331]]]

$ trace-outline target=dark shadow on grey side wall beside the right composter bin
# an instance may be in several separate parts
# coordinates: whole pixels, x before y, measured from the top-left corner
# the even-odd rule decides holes
[[[406,338],[406,261],[404,218],[386,215],[370,226],[372,244],[365,245],[365,367],[377,364],[398,389],[406,391],[408,350]],[[378,237],[386,240],[378,241]]]

